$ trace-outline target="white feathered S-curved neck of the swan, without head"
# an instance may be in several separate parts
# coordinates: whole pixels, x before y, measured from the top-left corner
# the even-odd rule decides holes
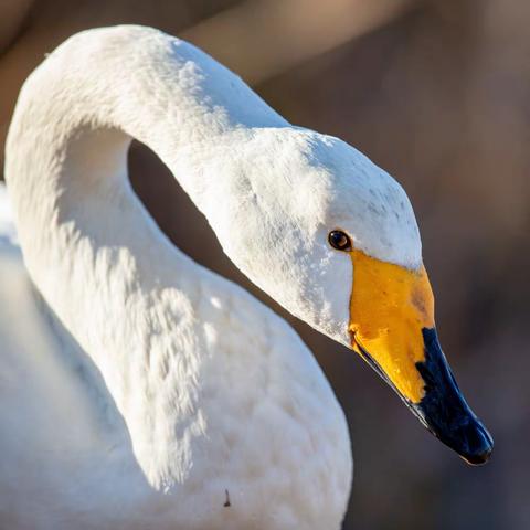
[[[145,437],[153,428],[145,424],[160,416],[155,403],[163,410],[158,396],[174,395],[163,392],[176,384],[167,378],[172,363],[181,391],[194,395],[198,363],[187,356],[202,348],[190,332],[200,321],[193,303],[213,275],[176,250],[135,197],[130,138],[150,147],[205,211],[220,190],[212,166],[231,138],[284,125],[209,56],[147,28],[75,35],[21,92],[6,178],[24,261],[102,371],[137,454],[150,451]]]

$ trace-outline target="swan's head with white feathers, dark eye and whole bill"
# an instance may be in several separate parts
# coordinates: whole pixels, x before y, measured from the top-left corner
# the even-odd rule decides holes
[[[261,129],[240,146],[244,155],[225,157],[221,170],[236,178],[220,176],[230,189],[206,208],[226,254],[287,310],[359,353],[464,459],[487,462],[492,439],[439,346],[401,186],[346,142],[306,129]]]

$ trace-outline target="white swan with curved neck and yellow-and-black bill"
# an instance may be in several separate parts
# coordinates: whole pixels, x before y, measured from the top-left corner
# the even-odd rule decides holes
[[[30,75],[7,140],[2,526],[340,528],[352,458],[329,383],[282,318],[161,233],[127,179],[131,138],[251,280],[359,353],[467,462],[489,458],[396,181],[197,47],[94,29]]]

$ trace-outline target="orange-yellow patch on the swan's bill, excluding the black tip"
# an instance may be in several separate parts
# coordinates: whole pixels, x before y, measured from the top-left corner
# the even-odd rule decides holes
[[[361,251],[350,252],[353,287],[350,299],[352,347],[361,346],[396,390],[412,403],[424,395],[416,362],[425,360],[423,328],[434,327],[434,297],[422,266],[410,271]]]

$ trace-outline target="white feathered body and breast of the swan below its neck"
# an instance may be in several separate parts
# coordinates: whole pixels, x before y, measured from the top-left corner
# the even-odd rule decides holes
[[[339,528],[351,480],[346,422],[285,321],[223,278],[183,269],[158,294],[174,307],[168,325],[190,337],[177,351],[194,358],[161,357],[158,330],[135,337],[161,353],[149,368],[137,361],[145,373],[130,375],[127,396],[142,403],[124,421],[20,256],[0,263],[2,526]],[[139,446],[132,422],[145,430]]]

